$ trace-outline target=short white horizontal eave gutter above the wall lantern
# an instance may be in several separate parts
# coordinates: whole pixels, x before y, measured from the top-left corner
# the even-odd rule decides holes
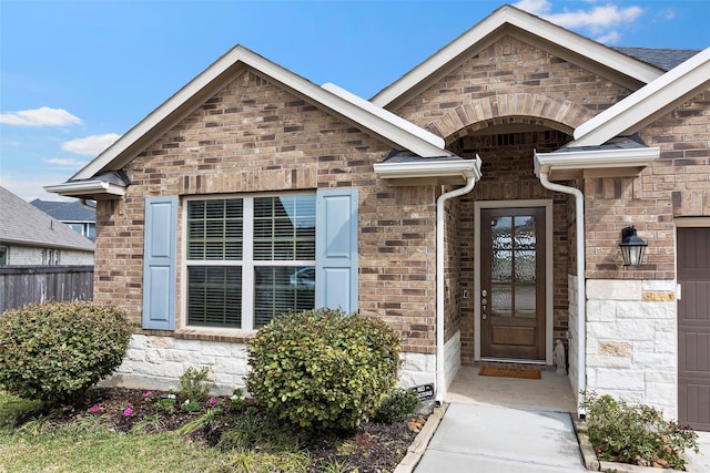
[[[570,151],[562,153],[535,152],[535,175],[552,171],[607,169],[646,167],[660,156],[658,147]]]

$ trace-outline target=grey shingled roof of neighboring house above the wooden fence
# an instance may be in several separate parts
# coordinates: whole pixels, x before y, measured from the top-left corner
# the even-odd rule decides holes
[[[93,251],[94,244],[0,187],[0,243]]]

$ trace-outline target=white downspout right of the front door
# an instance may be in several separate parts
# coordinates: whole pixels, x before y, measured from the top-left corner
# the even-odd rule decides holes
[[[575,196],[576,205],[576,224],[577,224],[577,411],[579,411],[579,402],[581,401],[579,390],[587,389],[587,368],[586,368],[586,308],[587,296],[585,290],[585,196],[576,187],[564,186],[561,184],[550,183],[547,177],[547,172],[538,169],[538,177],[542,187],[559,192],[562,194],[569,194]]]

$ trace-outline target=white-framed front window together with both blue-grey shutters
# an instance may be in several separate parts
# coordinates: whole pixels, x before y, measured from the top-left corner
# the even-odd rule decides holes
[[[357,310],[357,188],[195,197],[145,197],[143,304],[149,330],[176,328],[183,255],[183,319],[192,327],[255,330],[312,307]]]

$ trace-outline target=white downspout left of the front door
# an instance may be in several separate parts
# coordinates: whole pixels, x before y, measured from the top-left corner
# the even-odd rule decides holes
[[[446,200],[468,194],[480,178],[480,158],[476,156],[477,168],[466,174],[466,185],[442,194],[436,199],[436,402],[444,402],[446,382],[444,380],[444,230]]]

